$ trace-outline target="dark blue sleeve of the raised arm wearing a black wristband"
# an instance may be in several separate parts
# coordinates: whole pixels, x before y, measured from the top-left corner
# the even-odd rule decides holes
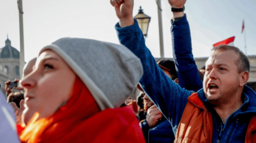
[[[202,88],[202,81],[193,59],[189,23],[186,15],[181,19],[171,20],[173,55],[179,85],[187,90],[197,92]]]

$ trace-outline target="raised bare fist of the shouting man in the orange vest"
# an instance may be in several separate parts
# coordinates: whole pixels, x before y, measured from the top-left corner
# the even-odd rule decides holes
[[[119,18],[119,25],[121,27],[134,24],[132,15],[133,0],[110,0],[110,3],[115,7],[117,17]]]

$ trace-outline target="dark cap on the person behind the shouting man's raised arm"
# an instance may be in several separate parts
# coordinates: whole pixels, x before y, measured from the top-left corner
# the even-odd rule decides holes
[[[175,78],[178,78],[174,61],[170,59],[161,59],[157,62],[157,64],[160,68],[169,71]]]

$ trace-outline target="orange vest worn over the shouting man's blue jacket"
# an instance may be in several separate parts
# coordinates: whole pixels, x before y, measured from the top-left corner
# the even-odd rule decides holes
[[[211,143],[212,116],[197,93],[188,98],[174,143]],[[250,119],[245,143],[256,143],[256,116]]]

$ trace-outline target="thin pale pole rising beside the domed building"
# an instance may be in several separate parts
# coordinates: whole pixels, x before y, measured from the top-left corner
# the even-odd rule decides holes
[[[24,57],[24,34],[23,34],[23,9],[22,0],[18,0],[18,14],[19,14],[19,41],[20,41],[20,52],[19,52],[19,75],[20,78],[23,76],[23,67],[25,65]]]

